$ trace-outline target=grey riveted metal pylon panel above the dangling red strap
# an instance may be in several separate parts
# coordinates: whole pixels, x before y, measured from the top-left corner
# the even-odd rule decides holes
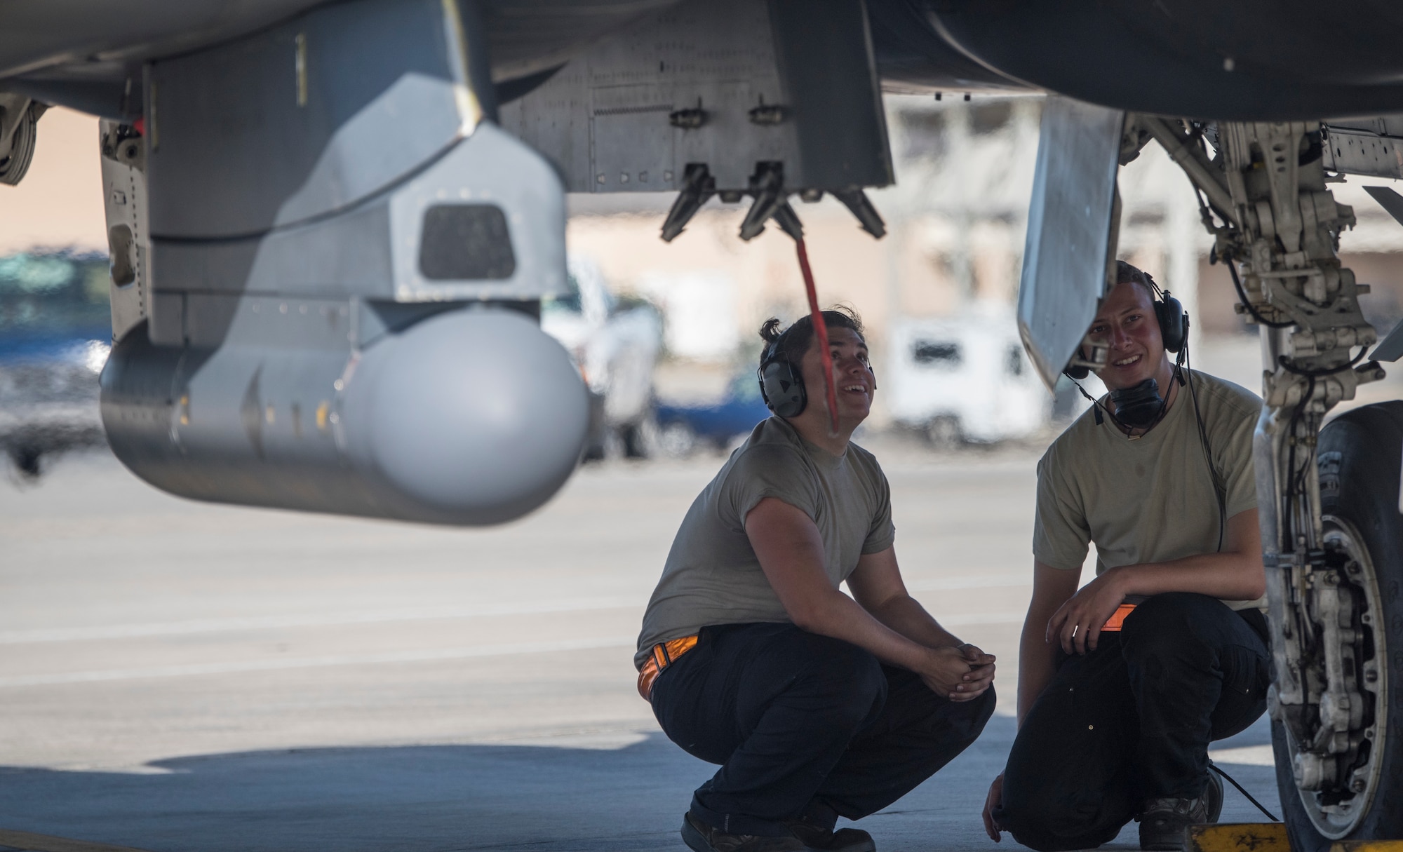
[[[791,191],[892,181],[860,0],[689,0],[600,41],[501,115],[568,192],[676,189],[693,163],[721,191],[746,189],[762,161],[781,163]]]

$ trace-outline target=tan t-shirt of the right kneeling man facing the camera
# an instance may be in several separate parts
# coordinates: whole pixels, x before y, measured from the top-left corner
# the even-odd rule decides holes
[[[1230,518],[1257,506],[1251,434],[1261,399],[1197,370],[1191,378]],[[1034,558],[1079,569],[1094,541],[1100,575],[1107,568],[1216,552],[1218,499],[1188,387],[1179,388],[1164,419],[1138,439],[1110,418],[1097,426],[1094,411],[1068,426],[1038,462]],[[1233,610],[1266,607],[1266,598],[1223,603]]]

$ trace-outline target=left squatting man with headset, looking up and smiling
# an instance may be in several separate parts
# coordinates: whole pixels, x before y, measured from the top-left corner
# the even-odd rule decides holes
[[[683,817],[696,852],[873,852],[838,817],[906,795],[993,712],[993,657],[906,593],[887,478],[849,441],[877,390],[861,324],[822,317],[838,432],[812,321],[770,320],[759,381],[774,416],[692,503],[638,636],[662,730],[721,764]]]

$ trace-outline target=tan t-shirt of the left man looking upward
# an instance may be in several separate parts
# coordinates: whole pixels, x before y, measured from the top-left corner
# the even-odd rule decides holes
[[[634,666],[643,666],[654,645],[707,625],[790,621],[745,535],[745,516],[765,497],[814,518],[833,589],[861,555],[885,551],[897,535],[891,488],[871,453],[850,443],[833,455],[770,418],[731,454],[682,520],[643,617]]]

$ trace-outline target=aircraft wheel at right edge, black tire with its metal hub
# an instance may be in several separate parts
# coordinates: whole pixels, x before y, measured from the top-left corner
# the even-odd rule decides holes
[[[1298,852],[1403,838],[1403,401],[1357,408],[1326,425],[1317,462],[1327,565],[1337,566],[1354,601],[1354,660],[1345,670],[1364,713],[1348,731],[1351,747],[1326,758],[1334,779],[1317,789],[1302,789],[1296,769],[1305,758],[1309,772],[1319,758],[1302,755],[1287,727],[1271,723],[1282,817]],[[1319,642],[1308,643],[1306,656],[1308,668],[1324,677]]]

